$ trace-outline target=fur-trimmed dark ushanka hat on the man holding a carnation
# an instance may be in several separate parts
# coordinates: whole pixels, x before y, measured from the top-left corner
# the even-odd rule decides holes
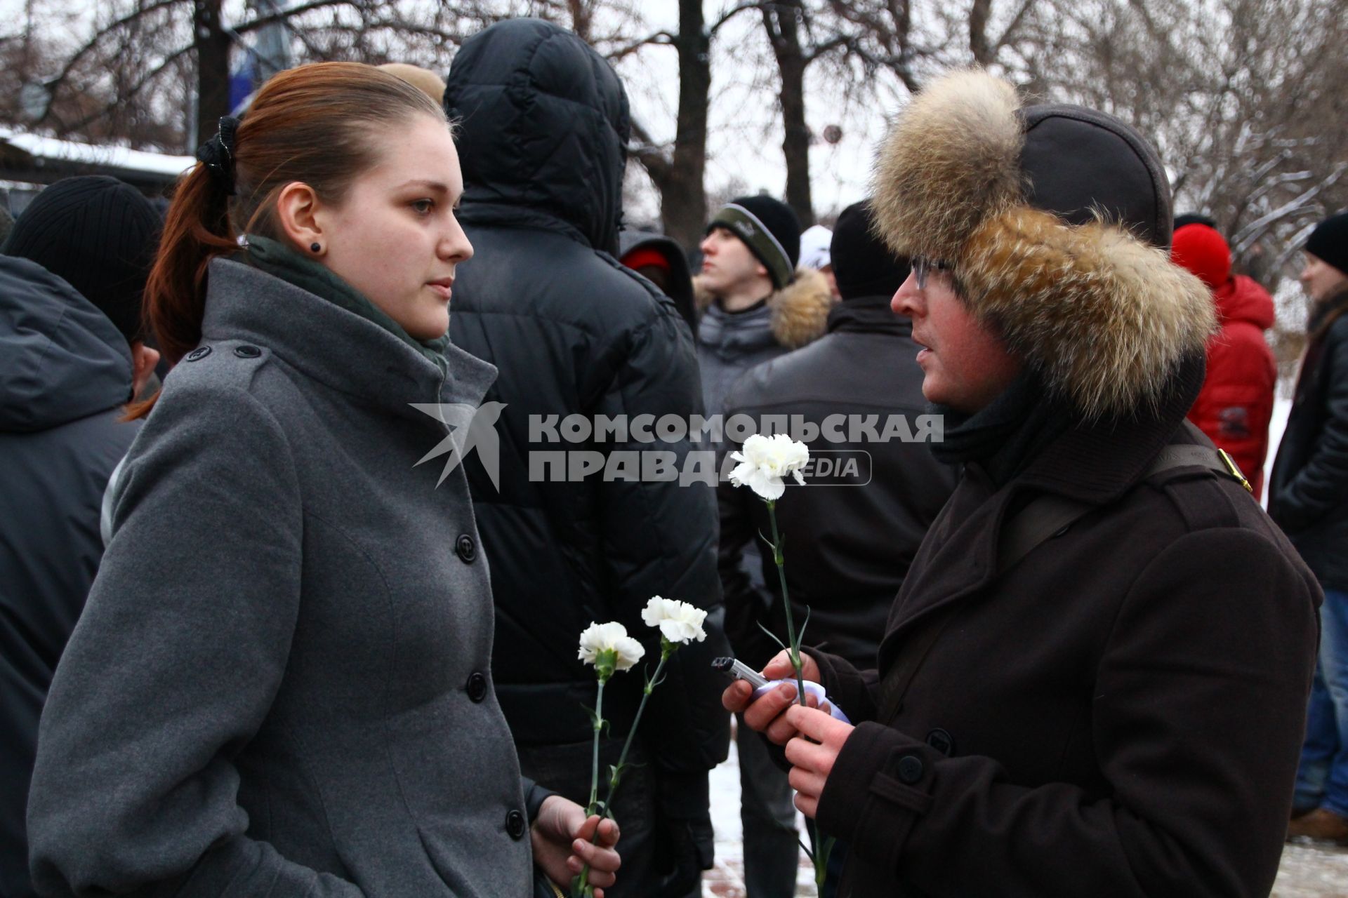
[[[1173,265],[1155,151],[1081,106],[1022,109],[983,71],[933,82],[876,160],[880,234],[952,267],[961,300],[1088,419],[1154,405],[1216,329]]]

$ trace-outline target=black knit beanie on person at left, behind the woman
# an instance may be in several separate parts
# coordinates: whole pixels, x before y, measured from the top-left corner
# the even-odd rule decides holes
[[[28,203],[5,253],[63,279],[133,343],[143,337],[142,298],[160,230],[159,214],[135,187],[81,175],[58,180]]]

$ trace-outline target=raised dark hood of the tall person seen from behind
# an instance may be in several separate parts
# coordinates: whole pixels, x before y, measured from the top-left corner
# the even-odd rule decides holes
[[[549,22],[511,19],[464,42],[445,112],[458,123],[464,203],[527,207],[617,249],[631,132],[612,66]]]

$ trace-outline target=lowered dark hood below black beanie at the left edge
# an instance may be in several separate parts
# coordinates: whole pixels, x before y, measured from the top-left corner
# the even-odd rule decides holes
[[[44,431],[131,400],[131,347],[74,287],[0,256],[0,431]]]

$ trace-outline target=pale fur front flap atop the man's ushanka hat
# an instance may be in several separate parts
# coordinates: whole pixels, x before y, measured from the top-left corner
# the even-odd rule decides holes
[[[1023,201],[1015,89],[956,71],[899,116],[875,164],[876,230],[900,256],[956,260],[985,218]]]

